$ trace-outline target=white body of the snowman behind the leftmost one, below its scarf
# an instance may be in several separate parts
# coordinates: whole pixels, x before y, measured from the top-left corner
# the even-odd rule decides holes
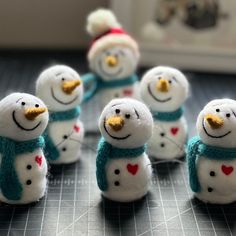
[[[60,152],[59,158],[50,163],[71,163],[79,159],[84,138],[84,126],[79,119],[49,123],[48,132],[53,143],[59,144]]]

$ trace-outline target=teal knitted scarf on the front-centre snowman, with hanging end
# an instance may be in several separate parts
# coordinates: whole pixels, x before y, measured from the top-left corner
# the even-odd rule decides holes
[[[106,142],[104,138],[101,138],[98,144],[98,154],[96,159],[96,176],[97,184],[101,191],[106,191],[108,188],[106,177],[106,163],[111,159],[118,158],[136,158],[143,154],[146,150],[146,146],[141,146],[132,149],[116,148],[110,143]]]

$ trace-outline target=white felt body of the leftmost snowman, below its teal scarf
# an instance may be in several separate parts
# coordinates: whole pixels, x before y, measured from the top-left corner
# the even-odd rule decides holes
[[[30,169],[29,166],[31,166]],[[27,168],[28,167],[28,168]],[[9,204],[27,204],[39,201],[47,187],[47,161],[41,149],[33,153],[22,154],[15,159],[15,168],[18,179],[22,184],[22,197],[18,201],[6,199],[0,191],[0,201]],[[31,184],[27,184],[31,181]]]

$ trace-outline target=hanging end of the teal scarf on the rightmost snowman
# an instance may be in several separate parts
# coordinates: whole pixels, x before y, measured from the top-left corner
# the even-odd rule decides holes
[[[199,145],[201,141],[198,136],[193,137],[188,142],[187,147],[187,161],[188,161],[188,172],[190,187],[193,192],[200,192],[201,187],[197,176],[196,160],[199,155]]]

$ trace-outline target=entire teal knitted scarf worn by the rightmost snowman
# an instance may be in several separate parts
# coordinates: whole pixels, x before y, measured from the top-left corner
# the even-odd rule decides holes
[[[236,159],[236,148],[221,148],[206,145],[200,140],[199,136],[193,137],[189,140],[187,161],[190,186],[194,192],[201,191],[196,168],[196,161],[199,156],[204,156],[212,160],[233,160]]]

